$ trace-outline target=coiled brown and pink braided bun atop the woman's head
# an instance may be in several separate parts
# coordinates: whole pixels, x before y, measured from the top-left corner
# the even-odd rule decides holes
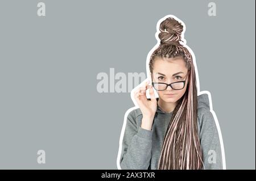
[[[174,18],[167,18],[160,24],[160,33],[158,35],[160,44],[171,45],[180,44],[181,32],[183,31],[183,26]]]

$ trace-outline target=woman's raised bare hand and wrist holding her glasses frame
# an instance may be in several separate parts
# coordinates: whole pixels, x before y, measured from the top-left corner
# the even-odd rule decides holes
[[[152,122],[154,120],[156,107],[157,107],[157,101],[155,98],[154,90],[152,85],[149,85],[150,81],[145,82],[141,87],[139,87],[134,92],[134,98],[136,102],[139,105],[139,108],[141,109],[143,119],[142,119],[142,125],[144,125],[144,128],[151,129]],[[146,97],[146,90],[150,90],[150,99],[147,100]],[[146,122],[146,123],[145,123]]]

